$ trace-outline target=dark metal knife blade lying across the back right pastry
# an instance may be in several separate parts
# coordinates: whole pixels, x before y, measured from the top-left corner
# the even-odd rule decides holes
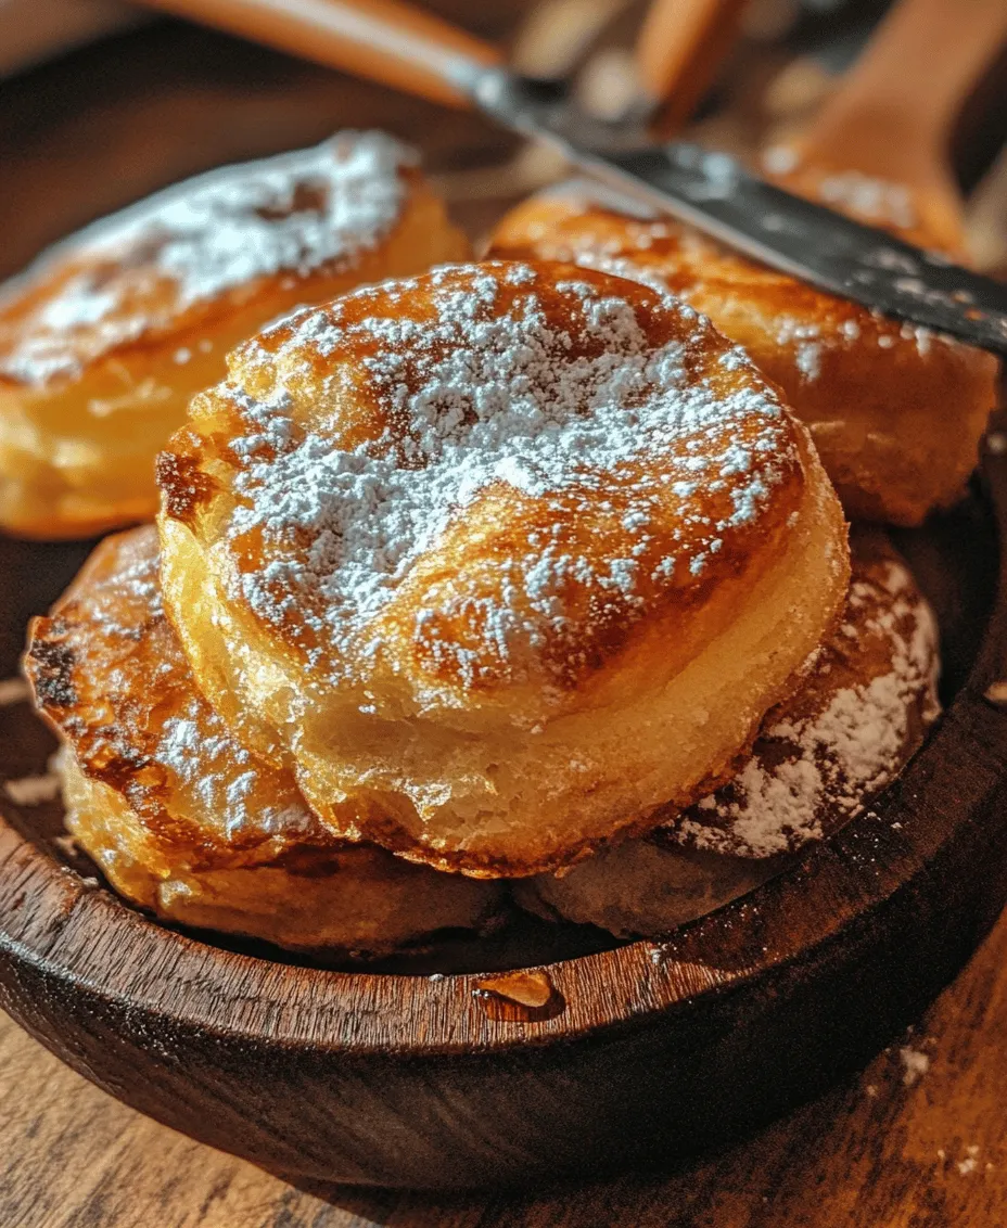
[[[844,298],[1007,356],[1007,286],[851,221],[684,141],[655,145],[570,104],[562,87],[484,69],[462,82],[497,123],[747,255]]]

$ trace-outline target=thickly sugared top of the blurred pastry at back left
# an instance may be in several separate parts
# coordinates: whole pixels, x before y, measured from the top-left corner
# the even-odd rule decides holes
[[[166,327],[198,302],[281,270],[351,265],[398,221],[403,169],[415,161],[383,133],[340,133],[314,149],[212,171],[114,214],[10,285],[0,300],[0,372],[28,383],[72,377],[82,357]],[[69,276],[60,278],[64,265]],[[58,279],[54,291],[5,328],[5,306],[49,279]],[[176,352],[177,362],[188,357]]]

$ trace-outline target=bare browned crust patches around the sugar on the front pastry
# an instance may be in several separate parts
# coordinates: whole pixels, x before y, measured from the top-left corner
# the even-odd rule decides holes
[[[558,332],[570,338],[567,361],[593,359],[599,352],[597,338],[587,336],[582,327],[578,298],[565,289],[571,280],[578,280],[602,293],[625,296],[655,349],[679,341],[684,348],[683,362],[689,382],[706,382],[711,398],[726,400],[732,392],[750,387],[775,399],[747,363],[742,361],[736,367],[721,361],[729,350],[728,343],[699,324],[694,314],[680,314],[659,292],[572,265],[539,262],[533,266],[537,273],[534,295],[543,314]],[[465,293],[481,271],[502,273],[506,269],[507,265],[458,265],[442,271],[438,285],[447,280],[458,292]],[[334,449],[351,448],[365,441],[382,449],[400,446],[406,440],[408,424],[393,405],[403,389],[409,394],[416,392],[413,355],[404,350],[393,381],[384,382],[376,363],[382,341],[370,335],[364,325],[375,317],[419,324],[429,322],[434,313],[432,287],[430,276],[365,287],[312,313],[312,327],[317,332],[338,328],[341,340],[334,354],[311,343],[292,352],[305,319],[301,314],[239,346],[228,360],[230,378],[195,398],[189,424],[172,437],[161,454],[162,515],[187,524],[204,545],[215,542],[225,549],[237,575],[259,573],[270,562],[285,558],[280,554],[281,548],[264,540],[258,530],[226,542],[216,537],[230,508],[241,502],[235,495],[241,464],[232,451],[232,441],[257,433],[260,438],[260,427],[248,409],[249,398],[266,398],[282,386],[295,402],[297,427],[305,435],[318,432]],[[507,284],[501,278],[492,312],[486,318],[497,319],[517,312],[516,305],[527,293],[524,282]],[[286,386],[281,371],[296,372]],[[329,391],[335,382],[334,371],[348,383],[352,381],[350,409],[340,406],[338,416],[333,413]],[[765,430],[765,419],[754,413],[744,421],[731,424],[739,447],[753,446]],[[726,429],[723,433],[726,436]],[[722,473],[710,474],[709,483],[690,496],[688,518],[671,499],[653,513],[646,549],[634,553],[639,575],[645,578],[631,598],[616,589],[601,600],[597,591],[587,586],[578,589],[571,583],[564,593],[562,625],[559,620],[535,625],[538,659],[522,662],[522,668],[549,685],[570,693],[583,690],[592,679],[604,674],[610,663],[625,657],[636,630],[653,619],[668,621],[668,651],[684,663],[693,648],[689,626],[701,616],[710,597],[747,570],[761,566],[786,537],[787,521],[804,491],[802,440],[799,429],[783,413],[774,424],[771,446],[760,441],[758,463],[771,456],[772,485],[758,516],[723,529],[721,546],[705,560],[701,581],[690,577],[684,565],[669,572],[659,564],[669,554],[691,559],[709,526],[731,519],[736,497],[750,478],[747,472],[732,470],[727,464]],[[683,441],[683,451],[685,446],[689,443]],[[715,446],[718,441],[717,445],[707,443],[707,447]],[[266,441],[257,442],[255,459],[259,465],[273,463],[275,449]],[[671,456],[647,458],[655,491],[662,490],[659,483],[671,459]],[[399,672],[418,682],[484,696],[512,683],[510,667],[495,650],[494,628],[473,612],[500,603],[501,589],[511,583],[508,560],[540,550],[546,537],[558,554],[585,559],[592,565],[634,551],[640,538],[624,522],[639,506],[641,472],[641,465],[632,472],[624,467],[618,478],[610,476],[603,495],[597,497],[586,497],[576,489],[569,494],[526,497],[504,494],[499,485],[480,491],[465,506],[464,516],[453,519],[436,544],[415,562],[381,616],[376,631],[384,643],[394,646]],[[242,495],[242,500],[248,497]],[[289,546],[291,558],[305,549],[306,540]],[[458,577],[465,580],[464,600],[453,597],[459,589]],[[323,674],[332,661],[328,632],[319,632],[313,625],[321,608],[312,608],[312,594],[298,593],[295,600],[282,580],[269,583],[271,607],[281,610],[281,615],[266,620],[237,586],[228,593],[228,600],[242,608],[244,618],[258,624],[279,652],[302,663],[311,659],[312,673]],[[421,610],[426,612],[422,634],[415,630]],[[446,643],[452,646],[451,653],[441,651]],[[459,664],[462,659],[464,668]]]

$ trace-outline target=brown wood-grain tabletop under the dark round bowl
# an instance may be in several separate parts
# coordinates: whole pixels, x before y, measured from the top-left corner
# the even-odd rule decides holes
[[[901,1047],[928,1061],[911,1086]],[[289,1185],[126,1109],[0,1017],[0,1223],[998,1228],[1007,1219],[1005,1082],[1007,919],[911,1034],[752,1141],[671,1175],[517,1197]]]

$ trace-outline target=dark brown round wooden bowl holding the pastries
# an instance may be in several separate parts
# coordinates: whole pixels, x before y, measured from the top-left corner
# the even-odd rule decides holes
[[[492,991],[485,969],[298,966],[150,921],[74,868],[55,799],[7,797],[0,1002],[113,1095],[302,1180],[452,1187],[666,1165],[781,1111],[911,1018],[1007,899],[1007,706],[990,690],[1007,678],[1006,449],[989,437],[989,492],[899,534],[957,690],[925,748],[868,813],[672,941],[561,935],[596,949]],[[0,545],[7,672],[28,610],[85,553]],[[44,772],[48,738],[7,702],[0,771]],[[531,948],[476,950],[499,966]],[[430,959],[458,966],[457,952]]]

